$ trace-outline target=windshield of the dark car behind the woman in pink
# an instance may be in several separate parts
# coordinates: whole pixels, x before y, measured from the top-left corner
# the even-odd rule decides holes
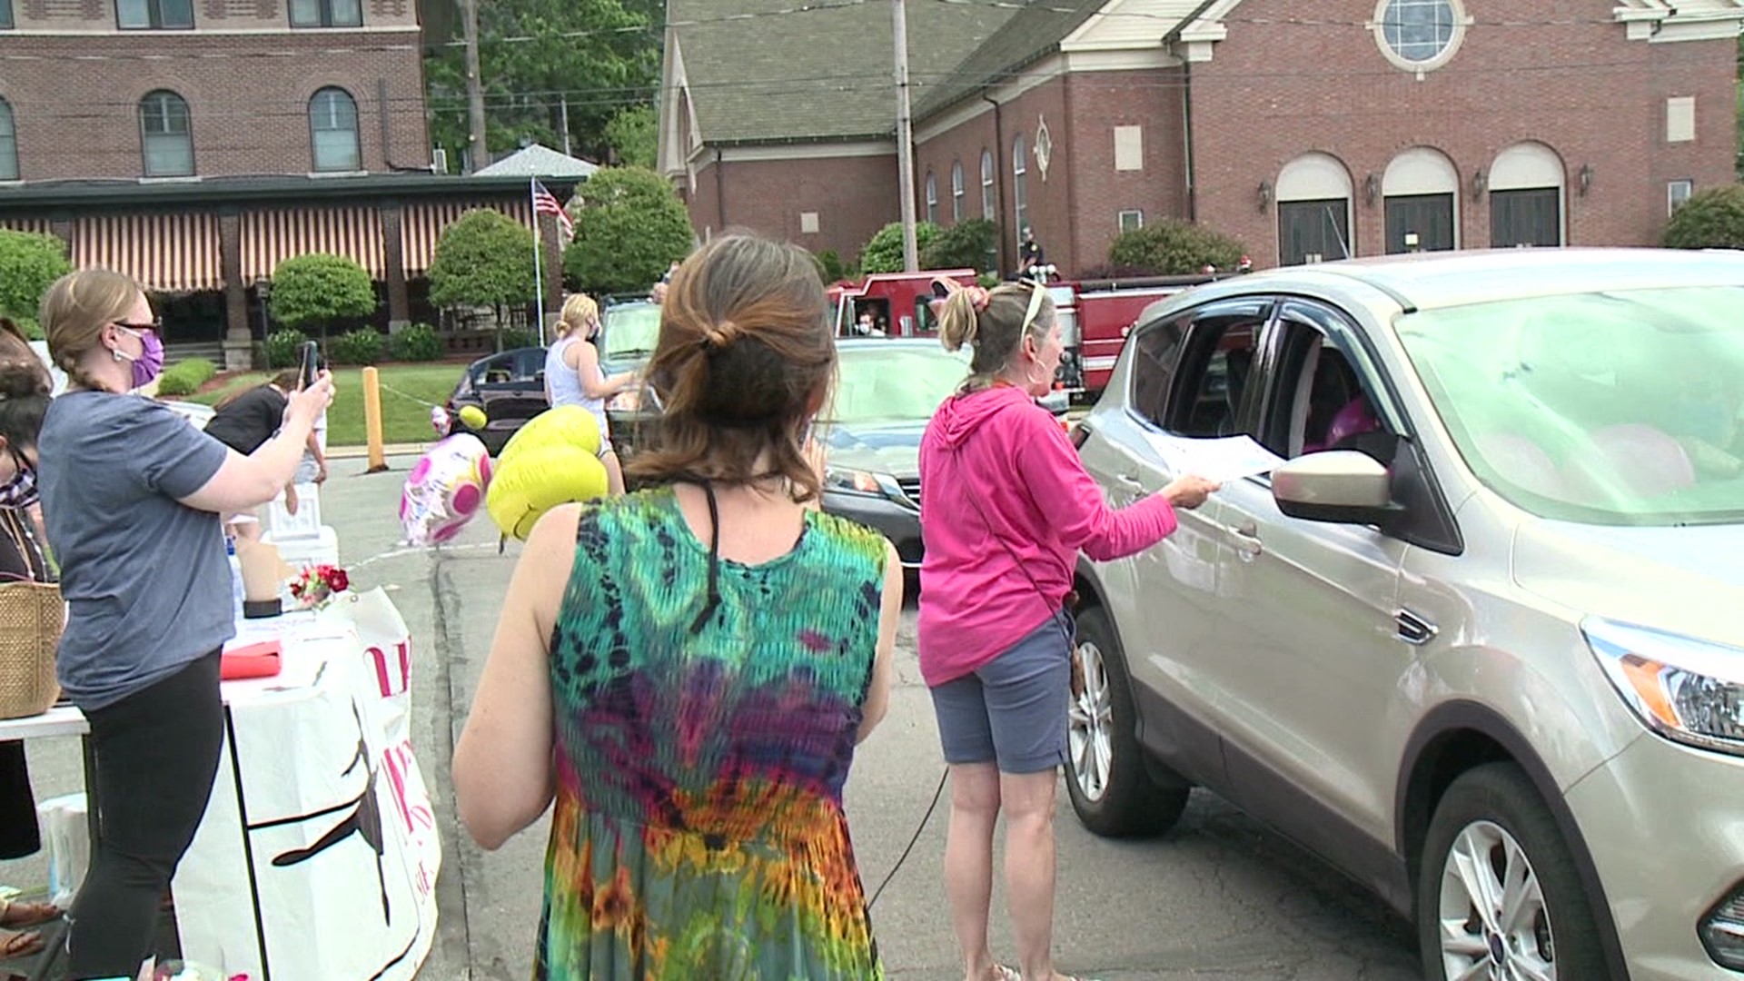
[[[841,347],[830,422],[924,422],[970,374],[968,351],[935,346]]]

